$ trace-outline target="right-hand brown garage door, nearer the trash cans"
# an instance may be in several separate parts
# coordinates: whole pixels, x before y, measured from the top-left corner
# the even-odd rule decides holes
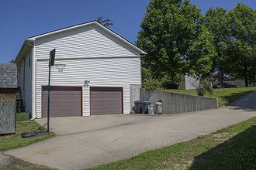
[[[91,115],[123,114],[123,87],[90,87]]]

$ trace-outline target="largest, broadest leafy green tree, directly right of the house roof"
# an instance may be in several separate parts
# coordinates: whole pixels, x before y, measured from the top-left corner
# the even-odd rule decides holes
[[[200,8],[189,0],[151,0],[140,24],[137,46],[147,52],[142,66],[154,78],[209,73],[215,55],[212,36],[204,27]]]

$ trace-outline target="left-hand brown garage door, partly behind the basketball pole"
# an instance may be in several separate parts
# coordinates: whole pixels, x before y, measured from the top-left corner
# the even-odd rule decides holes
[[[43,87],[43,117],[47,117],[48,87]],[[50,87],[50,117],[81,116],[81,87]]]

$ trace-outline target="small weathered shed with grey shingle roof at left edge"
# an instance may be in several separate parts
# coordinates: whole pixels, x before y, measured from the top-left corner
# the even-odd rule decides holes
[[[17,67],[0,63],[0,134],[16,132]]]

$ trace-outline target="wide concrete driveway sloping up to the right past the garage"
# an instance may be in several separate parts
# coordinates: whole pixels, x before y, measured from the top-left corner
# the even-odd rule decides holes
[[[188,141],[255,116],[256,91],[216,110],[51,118],[50,130],[57,137],[5,154],[51,168],[88,168]]]

